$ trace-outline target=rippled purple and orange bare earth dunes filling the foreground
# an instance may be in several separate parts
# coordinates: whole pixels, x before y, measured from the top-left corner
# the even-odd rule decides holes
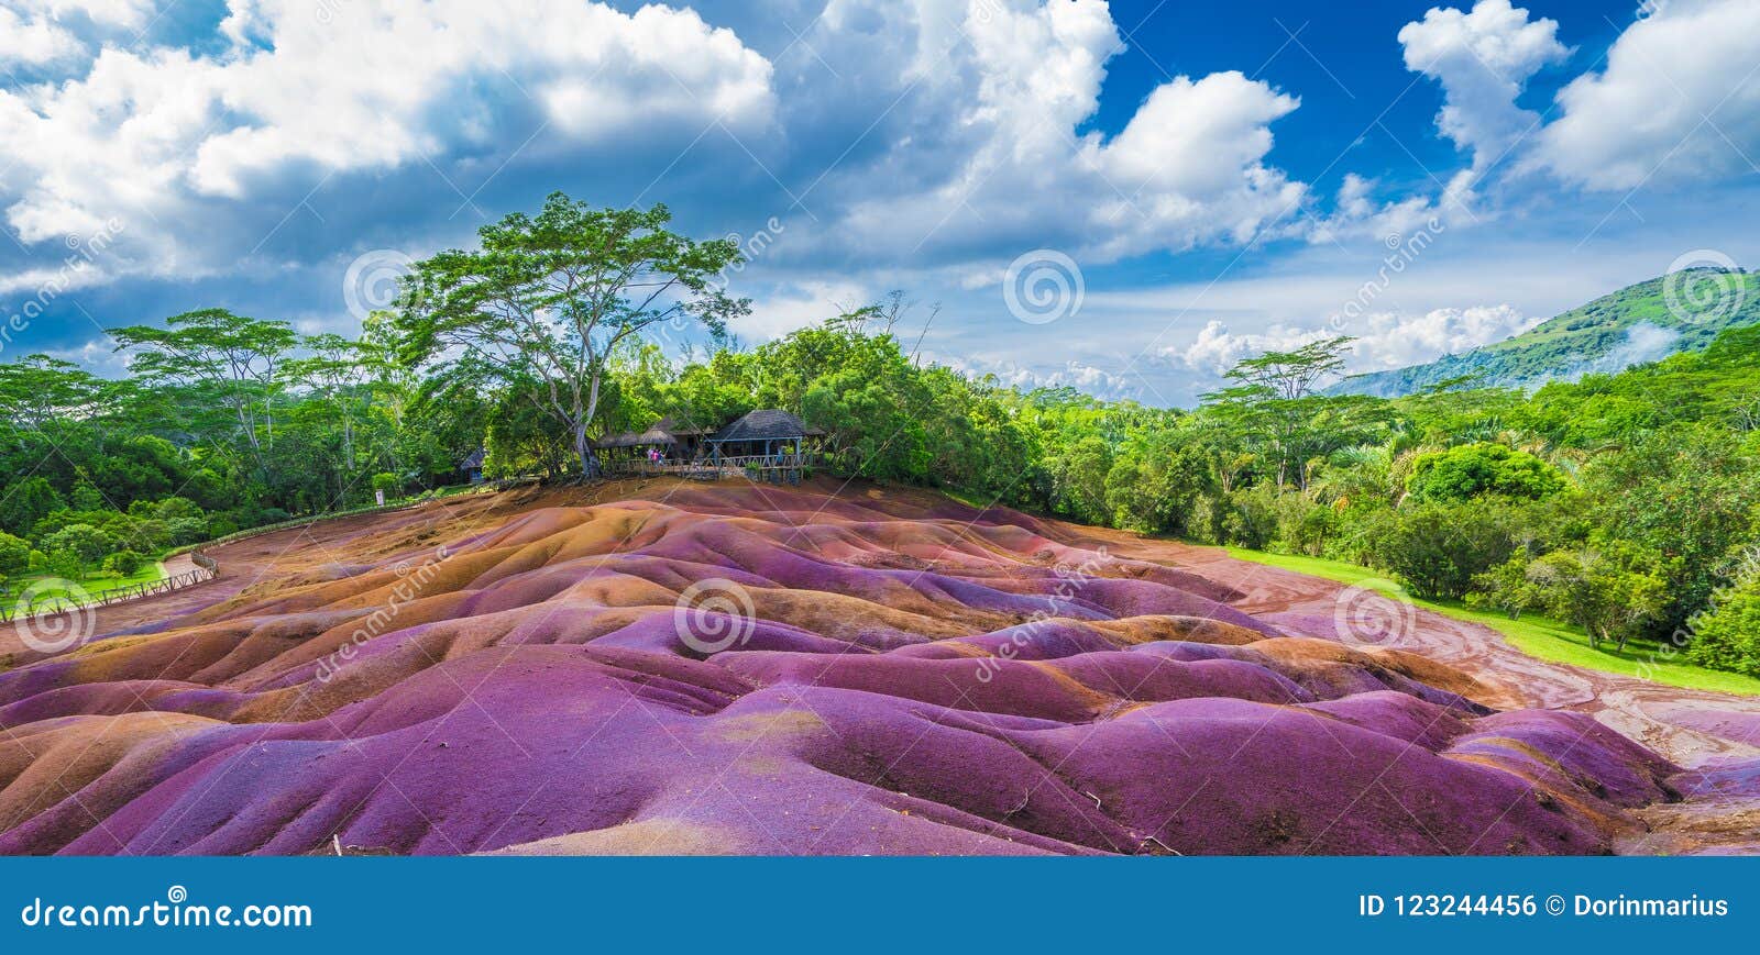
[[[1324,582],[929,494],[625,484],[215,556],[12,652],[0,851],[1603,853],[1688,753],[1466,624],[1352,645]]]

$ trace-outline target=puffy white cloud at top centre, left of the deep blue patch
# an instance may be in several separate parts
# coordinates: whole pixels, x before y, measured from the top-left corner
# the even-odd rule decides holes
[[[920,16],[926,26],[938,14]],[[1107,62],[1123,51],[1102,0],[977,2],[959,32],[970,44],[947,46],[938,70],[906,81],[912,95],[931,86],[920,95],[950,116],[887,157],[905,169],[905,153],[940,153],[940,174],[912,169],[908,190],[885,179],[857,186],[864,195],[841,232],[868,250],[975,260],[1012,239],[1111,260],[1243,243],[1306,199],[1302,183],[1267,162],[1271,123],[1299,100],[1241,72],[1172,77],[1116,135],[1077,134],[1100,107]],[[868,172],[852,169],[845,181]]]

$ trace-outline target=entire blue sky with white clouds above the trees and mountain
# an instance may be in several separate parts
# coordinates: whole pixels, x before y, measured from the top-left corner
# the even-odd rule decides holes
[[[924,354],[1023,385],[1190,405],[1336,332],[1394,368],[1753,266],[1755,35],[1748,0],[5,0],[0,359],[118,373],[106,327],[202,306],[347,332],[560,188],[752,243],[748,343],[901,288]]]

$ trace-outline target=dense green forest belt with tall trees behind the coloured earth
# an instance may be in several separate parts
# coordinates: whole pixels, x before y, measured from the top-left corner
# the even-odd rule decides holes
[[[741,250],[556,195],[415,266],[356,338],[202,310],[113,329],[130,375],[0,364],[0,573],[169,549],[489,477],[597,480],[591,440],[787,408],[832,475],[1086,524],[1325,556],[1760,675],[1760,325],[1533,392],[1329,394],[1348,338],[1243,361],[1193,410],[926,362],[903,295],[746,348]]]

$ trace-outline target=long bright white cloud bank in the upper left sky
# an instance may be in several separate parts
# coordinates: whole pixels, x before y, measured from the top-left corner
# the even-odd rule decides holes
[[[37,2],[111,25],[148,9]],[[121,218],[155,271],[192,273],[213,253],[190,229],[199,213],[248,209],[287,176],[315,188],[459,149],[505,153],[539,132],[609,146],[672,128],[688,141],[709,123],[764,128],[774,106],[769,62],[688,9],[234,0],[222,35],[231,46],[215,53],[106,44],[83,76],[0,90],[12,157],[0,195],[21,239]]]

